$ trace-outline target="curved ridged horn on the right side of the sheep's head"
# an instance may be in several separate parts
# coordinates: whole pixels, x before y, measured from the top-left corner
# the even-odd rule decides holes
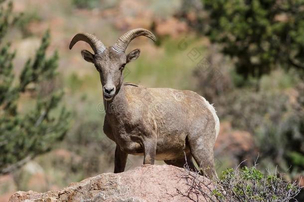
[[[113,45],[113,49],[116,52],[125,52],[129,43],[138,36],[147,36],[147,37],[151,38],[154,42],[156,41],[156,38],[155,38],[154,34],[152,34],[151,31],[144,29],[144,28],[137,28],[137,29],[132,29],[132,30],[128,31],[124,35],[119,37],[119,39]]]

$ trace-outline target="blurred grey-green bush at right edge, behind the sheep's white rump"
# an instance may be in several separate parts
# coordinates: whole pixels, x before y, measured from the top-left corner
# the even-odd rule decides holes
[[[220,117],[254,135],[260,158],[291,177],[304,174],[304,83],[294,89],[240,89],[218,99]],[[267,147],[265,147],[267,145]]]

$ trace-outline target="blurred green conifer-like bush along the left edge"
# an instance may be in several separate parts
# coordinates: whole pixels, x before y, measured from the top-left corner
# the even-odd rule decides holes
[[[2,43],[2,39],[17,20],[11,2],[0,4],[0,175],[49,151],[55,142],[63,139],[69,126],[69,113],[64,107],[58,108],[63,93],[55,91],[52,85],[43,88],[45,82],[54,81],[58,61],[57,52],[46,57],[50,43],[48,31],[42,37],[35,57],[27,60],[20,76],[14,74],[15,53],[10,51],[9,43]],[[17,104],[24,93],[32,96],[35,105],[21,113]]]

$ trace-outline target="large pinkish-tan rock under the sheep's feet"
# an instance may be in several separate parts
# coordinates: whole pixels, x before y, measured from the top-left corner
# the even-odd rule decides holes
[[[180,202],[190,201],[181,196],[189,187],[184,178],[185,170],[167,165],[143,165],[124,173],[105,173],[72,183],[60,191],[37,193],[16,192],[9,202]],[[208,184],[209,180],[198,178]],[[212,189],[203,187],[203,190]],[[179,191],[179,192],[178,192]],[[210,191],[209,191],[210,192]],[[196,199],[194,194],[190,198]],[[205,202],[203,196],[198,201]]]

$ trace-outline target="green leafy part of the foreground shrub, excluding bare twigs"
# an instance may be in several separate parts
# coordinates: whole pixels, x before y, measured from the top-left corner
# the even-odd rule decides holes
[[[222,193],[226,201],[288,202],[294,199],[300,193],[299,185],[289,183],[277,175],[264,175],[256,166],[240,170],[227,169],[219,180],[215,180],[215,185],[223,189],[215,190]]]

